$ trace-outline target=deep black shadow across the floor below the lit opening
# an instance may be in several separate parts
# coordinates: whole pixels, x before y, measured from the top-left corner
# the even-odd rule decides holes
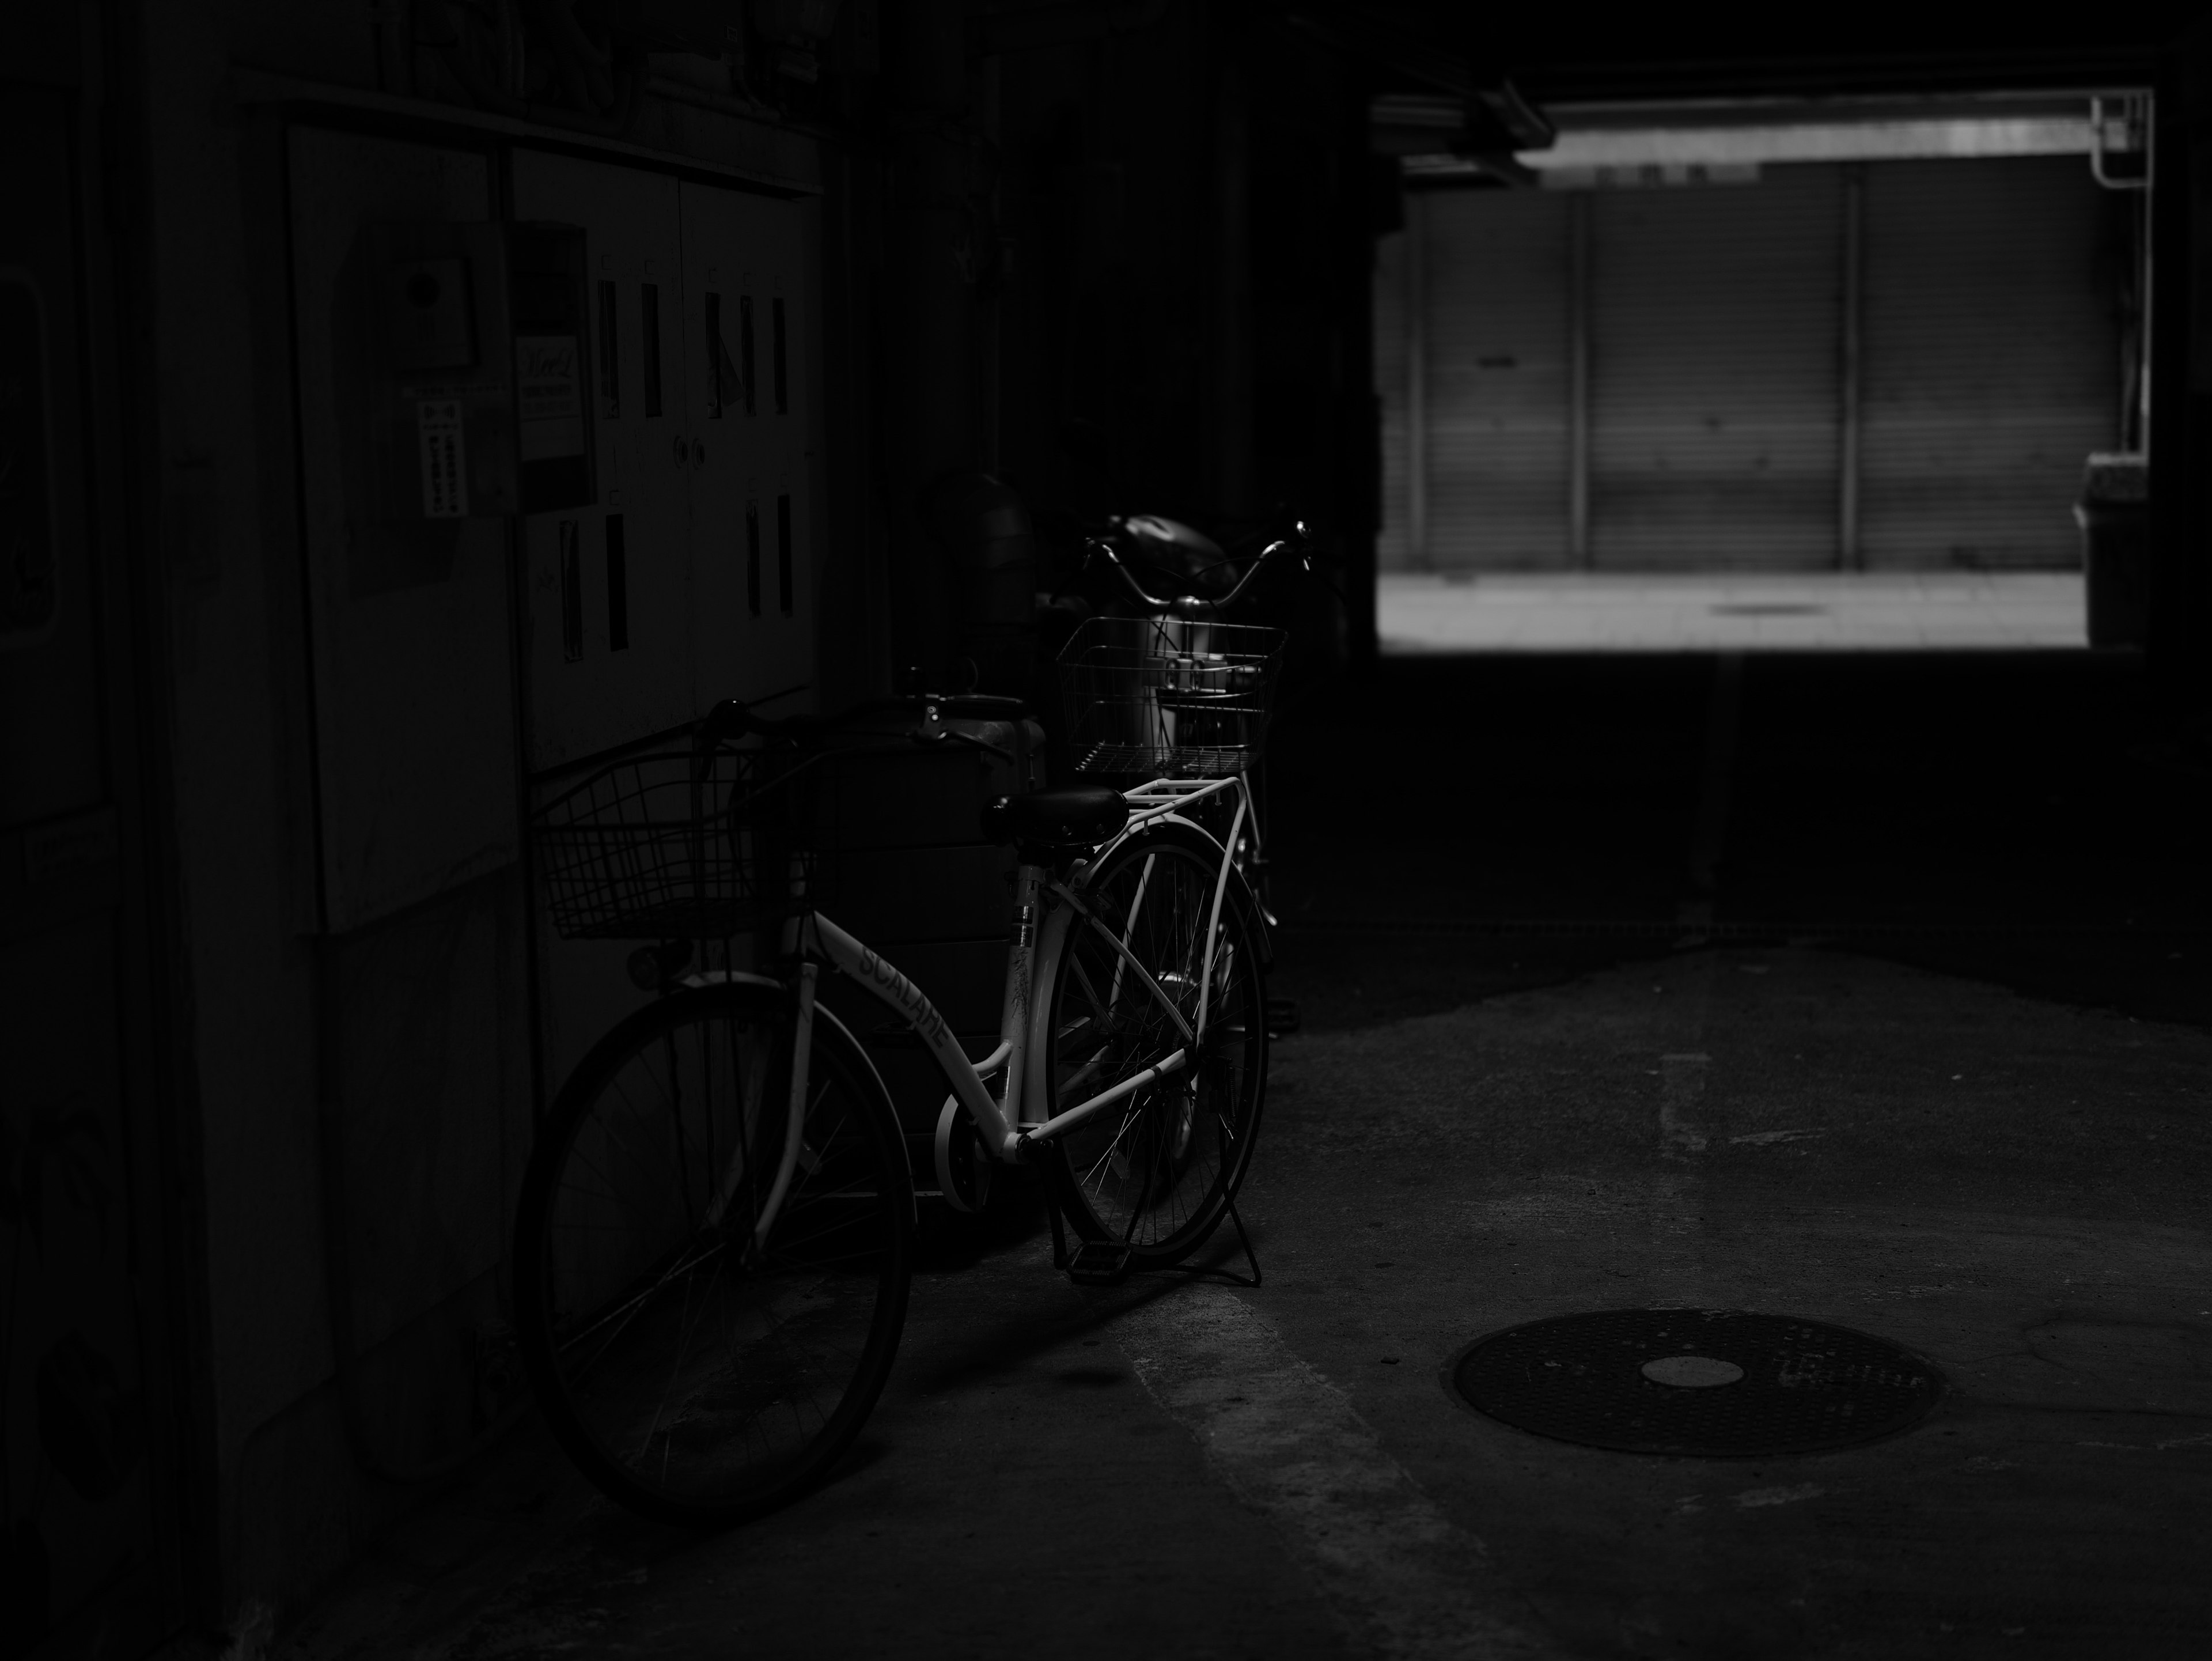
[[[2132,655],[1385,659],[1272,754],[1321,1028],[1708,940],[2212,1011],[2212,767]]]

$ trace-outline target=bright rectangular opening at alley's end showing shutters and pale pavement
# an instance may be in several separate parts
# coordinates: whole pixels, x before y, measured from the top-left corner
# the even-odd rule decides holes
[[[1504,164],[1411,104],[1387,652],[2088,644],[2126,537],[2084,573],[2084,515],[2143,495],[2148,100],[1557,108]]]

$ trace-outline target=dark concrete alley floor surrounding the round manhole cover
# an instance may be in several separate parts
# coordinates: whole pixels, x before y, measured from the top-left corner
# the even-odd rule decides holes
[[[947,1230],[816,1495],[688,1537],[524,1424],[274,1652],[2212,1652],[2212,776],[2132,664],[1400,664],[1276,756],[1263,1287]],[[1444,1389],[1668,1303],[1951,1393],[1674,1460]]]

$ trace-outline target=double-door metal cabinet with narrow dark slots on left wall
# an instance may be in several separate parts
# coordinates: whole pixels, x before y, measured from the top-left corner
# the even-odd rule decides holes
[[[807,212],[513,157],[513,215],[586,232],[599,476],[524,520],[533,772],[814,679]]]

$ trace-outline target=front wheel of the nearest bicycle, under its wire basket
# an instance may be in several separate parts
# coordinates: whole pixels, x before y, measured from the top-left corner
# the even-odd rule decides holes
[[[608,1495],[719,1526],[821,1480],[898,1351],[914,1181],[891,1104],[814,1020],[792,1181],[796,1000],[719,984],[611,1031],[562,1088],[522,1181],[515,1325],[538,1400]]]

